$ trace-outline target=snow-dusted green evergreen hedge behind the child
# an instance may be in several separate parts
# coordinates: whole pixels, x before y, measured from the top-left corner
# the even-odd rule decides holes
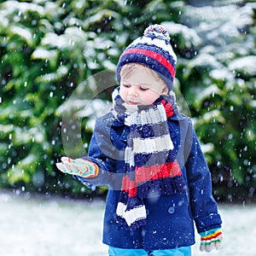
[[[66,153],[61,109],[79,84],[113,70],[125,46],[141,36],[148,24],[162,23],[177,53],[176,90],[189,105],[212,172],[214,195],[218,200],[252,200],[256,188],[256,4],[232,2],[1,3],[0,187],[90,195],[55,167]],[[85,104],[95,88],[84,86]],[[110,91],[99,96],[101,103],[110,100]],[[86,150],[93,114],[77,116]]]

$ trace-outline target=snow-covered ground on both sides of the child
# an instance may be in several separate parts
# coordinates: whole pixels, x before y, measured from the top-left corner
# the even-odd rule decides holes
[[[103,256],[104,201],[18,196],[0,191],[1,256]],[[193,256],[256,255],[256,206],[219,205],[224,220],[221,251]]]

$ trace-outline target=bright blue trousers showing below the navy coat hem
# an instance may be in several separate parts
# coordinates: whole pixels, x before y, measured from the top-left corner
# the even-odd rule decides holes
[[[191,247],[179,247],[170,250],[145,251],[143,249],[108,248],[109,256],[191,256]]]

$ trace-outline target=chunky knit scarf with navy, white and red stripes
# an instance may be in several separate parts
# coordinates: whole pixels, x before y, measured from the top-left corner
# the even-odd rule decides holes
[[[130,127],[125,148],[125,175],[116,209],[116,220],[136,230],[146,224],[143,199],[186,193],[167,118],[174,115],[173,96],[160,96],[152,105],[134,106],[113,90],[112,113]]]

